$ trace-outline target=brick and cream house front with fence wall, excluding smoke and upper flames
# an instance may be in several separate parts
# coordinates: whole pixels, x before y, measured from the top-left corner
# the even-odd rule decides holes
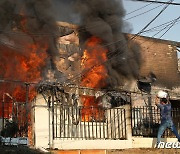
[[[65,27],[67,29],[70,27],[71,32],[58,39],[59,52],[62,56],[55,63],[57,69],[64,73],[66,78],[73,79],[81,70],[80,61],[77,60],[81,49],[76,28],[72,25]],[[132,35],[125,35],[131,41]],[[76,85],[75,87],[57,86],[60,87],[61,92],[49,93],[50,97],[47,95],[48,92],[37,95],[32,105],[34,146],[58,149],[124,149],[150,148],[155,145],[155,137],[139,133],[142,129],[146,130],[144,127],[139,129],[141,123],[139,116],[143,116],[145,112],[145,118],[151,117],[152,114],[146,107],[154,106],[154,98],[162,89],[169,92],[172,105],[179,107],[180,76],[177,56],[179,43],[144,36],[135,37],[135,42],[141,49],[140,75],[129,87],[126,86],[126,95],[122,87],[115,93],[110,92],[113,98],[120,98],[119,105],[99,111],[98,116],[95,114],[96,109],[91,108],[89,111],[92,112],[88,115],[90,119],[85,120],[86,114],[83,114],[82,102],[73,96],[98,98],[100,92],[78,86],[78,80],[72,80],[72,85]],[[137,110],[137,106],[143,106],[143,110],[139,108]],[[101,116],[105,117],[104,120],[100,113],[103,113]],[[157,124],[160,119],[157,116],[157,119],[150,118],[150,120],[152,122],[157,120],[155,123]],[[176,139],[167,138],[167,141],[175,142]]]

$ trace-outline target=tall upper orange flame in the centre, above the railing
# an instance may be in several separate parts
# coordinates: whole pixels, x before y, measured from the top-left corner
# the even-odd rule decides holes
[[[82,67],[87,71],[81,81],[81,86],[102,88],[106,86],[107,70],[103,63],[107,60],[107,49],[101,46],[101,39],[91,37],[82,57]]]

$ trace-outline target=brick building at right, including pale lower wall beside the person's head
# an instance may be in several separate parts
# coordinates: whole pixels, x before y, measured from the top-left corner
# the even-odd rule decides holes
[[[157,91],[167,90],[170,94],[172,104],[180,106],[180,72],[178,70],[177,48],[180,43],[137,36],[135,39],[141,46],[142,64],[140,69],[140,81],[144,81],[143,89],[134,86],[135,91],[142,92],[135,94],[134,105],[154,104],[154,97]],[[151,78],[154,77],[155,80]],[[149,87],[148,87],[149,86]],[[151,95],[149,95],[151,94]],[[141,103],[140,103],[141,102]],[[149,103],[148,103],[149,102]]]

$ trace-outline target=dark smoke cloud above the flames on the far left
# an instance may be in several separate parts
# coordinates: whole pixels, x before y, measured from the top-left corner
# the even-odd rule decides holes
[[[46,62],[48,65],[39,66],[32,74],[37,71],[42,73],[42,67],[47,69],[55,69],[53,61],[58,55],[56,48],[56,38],[61,35],[58,33],[58,27],[54,18],[51,0],[1,0],[0,1],[0,45],[1,59],[11,59],[13,66],[18,66],[19,62],[16,56],[25,56],[26,60],[30,60],[32,54],[31,46],[38,45],[36,55],[40,56],[42,52],[47,54]],[[8,48],[8,49],[7,49]],[[45,49],[46,50],[42,50]],[[8,50],[13,51],[14,57],[8,56]],[[16,54],[17,55],[16,55]],[[10,54],[12,55],[12,54]],[[42,58],[42,57],[41,57]],[[1,63],[8,66],[6,60]],[[45,63],[45,62],[44,62]],[[15,79],[15,70],[6,68],[9,72],[6,78]],[[10,71],[11,70],[11,71]],[[36,73],[37,74],[37,73]],[[1,76],[5,78],[5,76]],[[28,78],[28,77],[26,77]],[[17,80],[20,77],[17,75]]]

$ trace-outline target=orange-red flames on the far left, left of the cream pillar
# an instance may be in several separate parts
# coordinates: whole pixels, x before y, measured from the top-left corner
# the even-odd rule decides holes
[[[30,33],[26,28],[27,19],[23,17],[20,21],[21,30],[25,35],[32,38]],[[27,43],[23,44],[24,51],[16,51],[12,48],[0,46],[0,78],[6,80],[19,80],[22,82],[39,82],[42,80],[42,68],[45,66],[47,58],[48,44],[45,42]],[[0,83],[0,117],[10,118],[13,112],[13,101],[26,102],[26,86],[22,82],[1,82]],[[4,95],[4,93],[9,93],[13,100]],[[35,85],[31,84],[29,86],[29,102],[36,95]],[[2,100],[4,97],[4,106],[2,105]],[[20,105],[20,104],[19,104]],[[4,108],[4,113],[2,110]],[[18,116],[18,121],[20,121],[20,126],[22,127],[27,121],[31,122],[30,112],[26,113],[27,108],[24,107],[21,111],[21,116]],[[29,109],[30,110],[30,109]],[[24,114],[24,115],[23,115]],[[27,116],[26,116],[27,115]],[[27,119],[28,118],[28,119]],[[28,126],[28,137],[32,138],[32,128]],[[31,140],[31,139],[30,139]]]

